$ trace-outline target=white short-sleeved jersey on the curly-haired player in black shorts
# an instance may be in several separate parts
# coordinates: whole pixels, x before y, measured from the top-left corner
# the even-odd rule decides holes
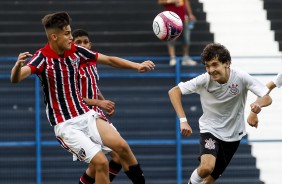
[[[248,73],[230,69],[227,83],[213,81],[204,73],[178,84],[181,93],[198,93],[203,109],[199,119],[200,132],[210,132],[220,140],[238,141],[246,135],[244,108],[248,90],[262,97],[268,89]]]

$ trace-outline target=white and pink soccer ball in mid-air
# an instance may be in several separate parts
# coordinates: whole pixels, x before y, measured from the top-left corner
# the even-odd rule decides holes
[[[159,13],[153,21],[153,30],[160,40],[175,40],[183,30],[183,24],[180,17],[171,11]]]

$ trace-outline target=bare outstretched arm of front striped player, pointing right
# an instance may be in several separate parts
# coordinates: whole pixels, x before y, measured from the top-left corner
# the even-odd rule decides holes
[[[115,68],[133,69],[141,73],[154,70],[155,68],[155,64],[150,60],[136,63],[119,57],[106,56],[101,53],[98,55],[97,63],[110,65]]]

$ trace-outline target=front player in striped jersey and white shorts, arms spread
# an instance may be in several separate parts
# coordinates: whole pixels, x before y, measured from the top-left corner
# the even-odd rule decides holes
[[[47,118],[54,127],[56,138],[63,148],[88,163],[82,183],[93,183],[93,178],[96,184],[110,183],[109,162],[101,151],[102,146],[107,146],[119,155],[133,183],[144,184],[143,172],[127,142],[83,101],[78,87],[79,66],[102,63],[146,72],[153,70],[155,65],[152,61],[135,63],[74,45],[70,22],[66,12],[43,17],[48,43],[34,55],[19,54],[11,71],[11,82],[19,83],[31,74],[39,77]],[[28,57],[32,58],[26,62]]]

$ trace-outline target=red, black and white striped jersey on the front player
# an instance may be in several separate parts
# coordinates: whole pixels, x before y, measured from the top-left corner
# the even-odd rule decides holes
[[[51,125],[62,123],[89,111],[78,87],[79,65],[95,63],[98,53],[71,45],[58,56],[49,44],[39,49],[27,63],[36,74],[44,92],[47,118]]]

